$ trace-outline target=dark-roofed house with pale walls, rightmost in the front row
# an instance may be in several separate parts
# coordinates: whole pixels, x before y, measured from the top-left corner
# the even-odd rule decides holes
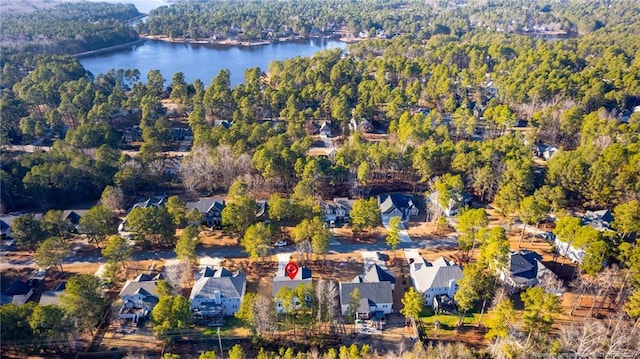
[[[500,280],[515,293],[540,284],[547,276],[555,277],[555,274],[542,264],[542,257],[522,250],[509,254],[509,267],[500,273]]]

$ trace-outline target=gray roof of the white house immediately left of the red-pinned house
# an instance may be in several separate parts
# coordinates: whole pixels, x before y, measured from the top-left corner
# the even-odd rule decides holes
[[[242,298],[246,288],[247,276],[244,273],[232,273],[223,268],[215,271],[213,275],[200,277],[193,285],[189,300],[195,297],[213,298],[216,291],[220,292],[222,298]]]

